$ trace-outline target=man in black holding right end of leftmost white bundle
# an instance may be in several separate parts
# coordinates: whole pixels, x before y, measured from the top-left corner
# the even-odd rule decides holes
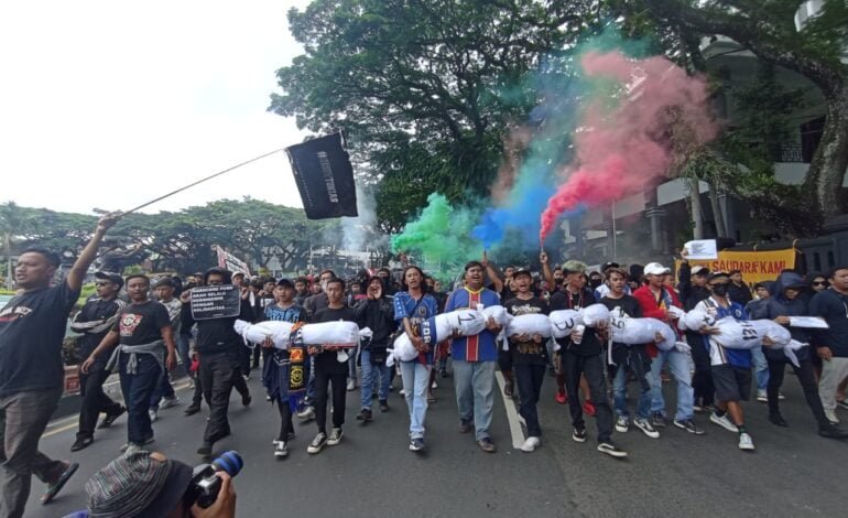
[[[315,324],[338,321],[356,322],[354,311],[347,307],[343,301],[345,281],[329,279],[324,289],[327,294],[327,306],[318,310],[311,322]],[[315,420],[318,424],[318,434],[315,435],[306,450],[308,453],[320,452],[325,444],[335,446],[344,435],[341,425],[345,424],[348,365],[347,355],[343,354],[345,349],[340,346],[349,345],[324,344],[320,347],[309,346],[308,348],[315,363]],[[330,384],[333,385],[333,431],[327,435],[327,399]]]

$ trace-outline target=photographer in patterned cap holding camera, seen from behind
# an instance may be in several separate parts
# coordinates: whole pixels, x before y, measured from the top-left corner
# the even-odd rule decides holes
[[[86,483],[88,509],[65,518],[231,518],[238,453],[192,468],[159,452],[116,458]]]

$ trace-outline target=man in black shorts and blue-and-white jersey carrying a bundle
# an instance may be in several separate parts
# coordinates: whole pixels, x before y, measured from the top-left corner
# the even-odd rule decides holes
[[[730,300],[730,276],[724,271],[709,274],[707,285],[713,292],[709,299],[700,301],[696,310],[703,311],[716,320],[731,316],[739,321],[748,320],[744,307]],[[741,401],[747,401],[751,392],[751,352],[732,349],[721,345],[721,335],[715,327],[700,330],[704,344],[709,347],[709,363],[713,369],[713,384],[716,387],[716,411],[709,421],[725,430],[739,434],[739,450],[752,451],[753,440],[744,425]],[[716,335],[713,338],[713,335]]]

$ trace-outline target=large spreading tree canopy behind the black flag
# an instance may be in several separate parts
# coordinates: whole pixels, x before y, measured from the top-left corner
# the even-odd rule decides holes
[[[524,74],[575,41],[586,20],[599,23],[597,6],[316,0],[289,13],[305,53],[278,71],[283,94],[270,109],[315,132],[344,130],[359,174],[387,183],[378,213],[396,229],[423,206],[424,188],[452,201],[486,194],[502,133],[539,100],[520,87]],[[410,179],[422,182],[406,192]]]

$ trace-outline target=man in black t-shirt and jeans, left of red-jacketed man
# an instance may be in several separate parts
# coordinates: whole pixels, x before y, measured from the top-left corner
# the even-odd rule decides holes
[[[609,309],[612,316],[641,319],[642,306],[639,305],[639,301],[624,293],[627,271],[618,267],[610,268],[607,270],[607,283],[609,291],[600,300],[600,303]],[[633,424],[649,438],[659,439],[660,432],[650,422],[651,382],[648,380],[648,373],[651,370],[651,357],[645,352],[645,344],[624,345],[613,342],[609,359],[611,360],[610,370],[612,373],[612,403],[618,414],[616,431],[624,433],[630,427],[630,412],[627,409],[627,374],[629,371],[640,387]]]

